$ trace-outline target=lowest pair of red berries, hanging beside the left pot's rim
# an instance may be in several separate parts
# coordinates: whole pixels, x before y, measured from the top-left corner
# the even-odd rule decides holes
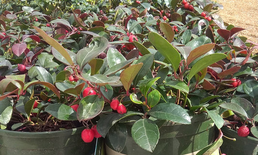
[[[85,128],[81,132],[81,138],[84,142],[91,142],[95,138],[102,137],[97,131],[97,126],[93,125],[91,128]]]

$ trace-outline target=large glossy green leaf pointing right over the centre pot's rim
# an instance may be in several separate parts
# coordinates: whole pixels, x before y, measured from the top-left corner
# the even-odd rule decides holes
[[[159,103],[148,114],[157,119],[191,124],[191,118],[187,111],[175,103]]]

